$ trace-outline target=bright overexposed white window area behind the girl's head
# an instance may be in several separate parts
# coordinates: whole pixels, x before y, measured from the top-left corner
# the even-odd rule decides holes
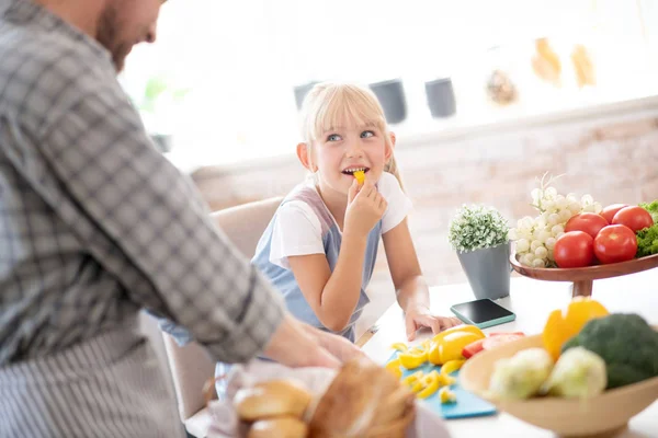
[[[172,135],[169,155],[190,170],[293,153],[293,91],[309,81],[400,78],[408,107],[395,127],[400,140],[658,94],[657,24],[653,0],[172,0],[162,7],[158,42],[134,50],[122,82],[147,128]],[[560,57],[559,89],[533,73],[534,41],[543,36]],[[594,87],[576,84],[577,43],[593,60]],[[487,99],[495,68],[514,78],[515,104]],[[452,79],[457,112],[438,120],[424,82],[441,77]]]

